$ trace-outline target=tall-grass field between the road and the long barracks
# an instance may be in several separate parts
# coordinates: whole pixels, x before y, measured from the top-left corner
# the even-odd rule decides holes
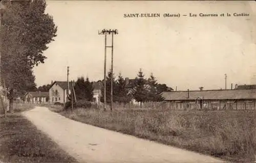
[[[83,123],[229,161],[254,161],[256,151],[256,112],[254,111],[103,112],[78,108],[74,112],[65,111],[60,114]]]

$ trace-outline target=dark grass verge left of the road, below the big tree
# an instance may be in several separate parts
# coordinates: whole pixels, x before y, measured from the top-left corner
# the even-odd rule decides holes
[[[0,118],[0,160],[4,162],[76,162],[19,113]]]

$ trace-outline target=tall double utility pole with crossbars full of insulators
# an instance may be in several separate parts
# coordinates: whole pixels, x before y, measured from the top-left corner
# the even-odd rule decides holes
[[[118,31],[115,30],[101,30],[98,32],[99,35],[105,35],[105,56],[104,56],[104,111],[106,110],[106,48],[111,47],[111,111],[113,110],[113,38],[114,34],[117,35]],[[106,46],[106,35],[112,35],[112,46]]]

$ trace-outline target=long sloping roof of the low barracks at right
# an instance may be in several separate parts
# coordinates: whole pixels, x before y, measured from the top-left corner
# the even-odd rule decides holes
[[[256,89],[251,90],[205,90],[205,91],[175,91],[163,92],[164,100],[195,100],[203,99],[256,99]]]

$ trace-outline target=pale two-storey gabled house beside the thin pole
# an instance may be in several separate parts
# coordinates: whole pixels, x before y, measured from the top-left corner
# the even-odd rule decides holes
[[[69,94],[71,94],[71,82],[69,83]],[[68,82],[55,81],[49,89],[50,102],[65,103],[68,101]]]

